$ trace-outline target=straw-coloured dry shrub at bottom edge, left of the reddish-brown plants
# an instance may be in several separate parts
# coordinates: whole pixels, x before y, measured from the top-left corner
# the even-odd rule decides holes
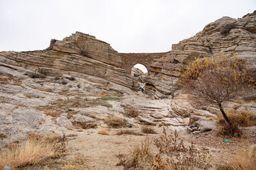
[[[151,141],[149,137],[146,137],[140,145],[136,145],[129,156],[119,157],[119,163],[124,166],[124,169],[151,169],[151,162],[153,160],[153,154],[151,153]]]

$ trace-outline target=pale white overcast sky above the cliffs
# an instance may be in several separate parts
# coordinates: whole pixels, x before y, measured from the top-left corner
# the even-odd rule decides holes
[[[255,10],[255,0],[0,0],[0,51],[43,50],[80,31],[118,52],[167,52],[218,18]]]

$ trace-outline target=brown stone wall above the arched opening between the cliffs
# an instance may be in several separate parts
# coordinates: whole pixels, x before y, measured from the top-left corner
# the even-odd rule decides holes
[[[135,64],[142,64],[146,69],[150,70],[150,65],[154,59],[160,58],[165,55],[166,52],[156,52],[156,53],[119,53],[122,63],[121,68],[131,72],[132,67]]]

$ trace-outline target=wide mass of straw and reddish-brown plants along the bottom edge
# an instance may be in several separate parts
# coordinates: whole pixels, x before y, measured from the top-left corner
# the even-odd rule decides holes
[[[159,149],[157,154],[152,154],[150,145],[149,137],[146,137],[142,144],[136,145],[128,156],[119,155],[117,165],[124,166],[124,169],[148,170],[196,170],[211,167],[208,160],[209,154],[199,152],[193,143],[186,147],[176,131],[168,135],[164,128],[163,135],[154,139],[154,145]]]

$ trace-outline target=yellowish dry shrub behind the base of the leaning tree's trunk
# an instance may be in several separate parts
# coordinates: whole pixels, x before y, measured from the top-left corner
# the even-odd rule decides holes
[[[230,118],[233,125],[238,125],[242,127],[248,127],[256,125],[256,116],[253,115],[250,111],[228,111],[228,118]],[[217,122],[220,125],[225,123],[225,120],[222,115],[218,114]]]

